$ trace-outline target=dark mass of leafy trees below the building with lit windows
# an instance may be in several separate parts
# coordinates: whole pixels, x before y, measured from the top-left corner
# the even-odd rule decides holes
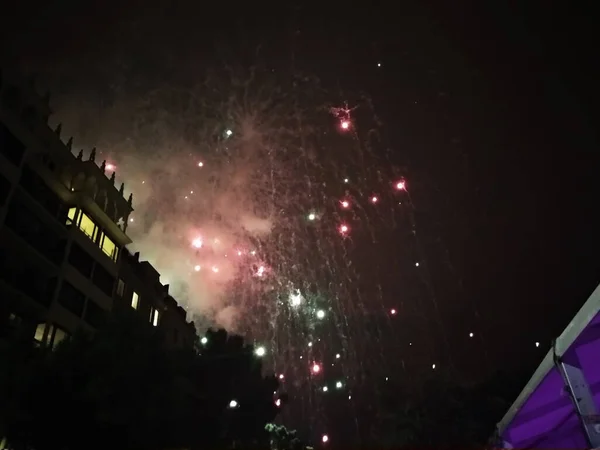
[[[240,337],[218,331],[209,339],[201,353],[170,351],[159,328],[119,314],[55,350],[20,344],[29,350],[16,357],[23,348],[7,346],[0,400],[11,405],[1,417],[9,442],[36,450],[267,448],[276,380],[262,376]]]

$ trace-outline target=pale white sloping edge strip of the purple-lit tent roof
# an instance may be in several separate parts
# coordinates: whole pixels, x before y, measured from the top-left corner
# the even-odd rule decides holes
[[[518,395],[517,399],[508,409],[502,420],[498,422],[497,432],[500,436],[504,434],[506,429],[509,427],[521,407],[525,404],[527,399],[533,394],[540,383],[544,380],[546,375],[554,368],[555,355],[560,358],[565,352],[571,347],[575,339],[585,330],[589,323],[594,319],[596,314],[600,312],[600,285],[596,287],[592,295],[587,299],[581,309],[575,314],[575,317],[561,335],[556,339],[554,349],[550,349],[546,356],[542,360],[542,363],[538,366],[533,376],[525,385],[525,388]]]

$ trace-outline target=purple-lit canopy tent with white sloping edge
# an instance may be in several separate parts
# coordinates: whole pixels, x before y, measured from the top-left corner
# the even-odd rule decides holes
[[[503,448],[600,448],[600,286],[498,424]]]

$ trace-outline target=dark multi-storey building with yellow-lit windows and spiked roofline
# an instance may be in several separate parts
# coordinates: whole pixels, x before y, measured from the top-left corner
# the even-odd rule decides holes
[[[193,345],[195,328],[168,286],[126,249],[132,195],[95,149],[76,155],[50,114],[48,96],[0,68],[0,333],[53,346],[128,307],[168,345]]]

